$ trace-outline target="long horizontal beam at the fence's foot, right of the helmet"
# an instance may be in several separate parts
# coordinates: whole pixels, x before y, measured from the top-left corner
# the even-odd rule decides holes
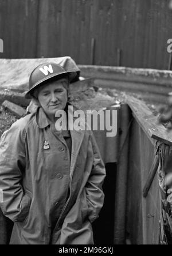
[[[172,71],[157,69],[136,69],[131,67],[78,65],[81,76],[100,80],[126,81],[130,83],[157,85],[172,88]]]

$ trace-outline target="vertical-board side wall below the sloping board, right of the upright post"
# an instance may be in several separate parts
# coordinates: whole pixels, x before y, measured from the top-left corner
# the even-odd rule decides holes
[[[126,225],[126,233],[132,244],[158,244],[160,210],[157,176],[147,197],[142,196],[153,160],[154,145],[134,121],[130,137]]]

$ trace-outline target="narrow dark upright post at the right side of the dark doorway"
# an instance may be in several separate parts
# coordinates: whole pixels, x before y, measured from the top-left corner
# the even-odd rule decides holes
[[[116,174],[114,244],[124,244],[126,238],[126,206],[127,206],[127,177],[128,149],[130,133],[130,110],[123,105],[120,110],[120,141],[119,159]]]

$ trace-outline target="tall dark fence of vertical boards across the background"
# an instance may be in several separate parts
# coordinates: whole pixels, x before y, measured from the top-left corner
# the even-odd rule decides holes
[[[167,69],[167,0],[1,0],[0,58]]]

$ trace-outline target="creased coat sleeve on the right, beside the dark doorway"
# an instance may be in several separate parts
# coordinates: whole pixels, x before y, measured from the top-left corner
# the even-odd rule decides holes
[[[89,179],[85,186],[88,204],[88,218],[91,222],[99,217],[99,212],[104,203],[102,185],[105,178],[105,167],[101,159],[99,148],[95,137],[91,133],[91,144],[93,151],[93,166]]]

